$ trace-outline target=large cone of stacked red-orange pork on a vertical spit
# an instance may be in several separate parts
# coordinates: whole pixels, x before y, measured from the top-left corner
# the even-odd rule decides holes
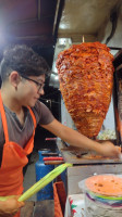
[[[100,42],[73,44],[57,60],[60,90],[80,132],[95,138],[109,108],[113,56]]]

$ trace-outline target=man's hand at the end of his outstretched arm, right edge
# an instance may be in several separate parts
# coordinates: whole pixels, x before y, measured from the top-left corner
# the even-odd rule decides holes
[[[106,141],[100,144],[100,149],[98,150],[98,153],[100,153],[103,156],[119,157],[119,155],[121,154],[121,149],[120,146],[115,146],[111,142]]]

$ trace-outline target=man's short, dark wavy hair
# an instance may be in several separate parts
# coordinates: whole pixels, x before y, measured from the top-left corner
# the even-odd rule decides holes
[[[49,75],[50,69],[46,60],[25,44],[16,44],[4,50],[0,64],[1,80],[4,81],[12,71],[20,75]]]

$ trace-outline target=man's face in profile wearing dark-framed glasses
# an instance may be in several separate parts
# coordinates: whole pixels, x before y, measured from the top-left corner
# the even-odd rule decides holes
[[[45,75],[21,76],[22,80],[19,89],[21,104],[34,106],[36,101],[44,94]]]

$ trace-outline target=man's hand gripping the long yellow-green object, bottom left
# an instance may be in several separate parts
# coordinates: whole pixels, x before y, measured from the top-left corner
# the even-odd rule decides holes
[[[0,201],[0,217],[13,217],[24,206],[23,202],[17,201],[19,197],[13,196],[7,201]]]

